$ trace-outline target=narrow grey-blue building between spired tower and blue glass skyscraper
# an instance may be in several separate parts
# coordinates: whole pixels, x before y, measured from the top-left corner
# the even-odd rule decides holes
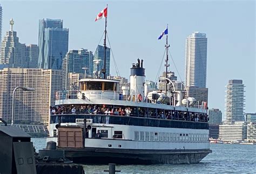
[[[26,62],[28,62],[25,68],[37,68],[38,62],[38,46],[35,44],[30,44],[26,46]]]

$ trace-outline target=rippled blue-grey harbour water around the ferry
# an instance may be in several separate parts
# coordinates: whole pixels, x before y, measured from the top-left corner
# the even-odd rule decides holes
[[[31,139],[36,149],[45,148],[45,139]],[[256,145],[211,144],[212,154],[198,164],[117,165],[118,173],[256,173]],[[108,165],[84,165],[85,173],[106,173]]]

